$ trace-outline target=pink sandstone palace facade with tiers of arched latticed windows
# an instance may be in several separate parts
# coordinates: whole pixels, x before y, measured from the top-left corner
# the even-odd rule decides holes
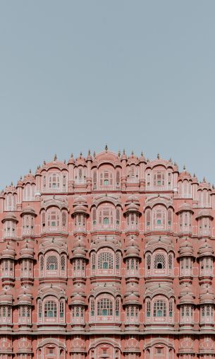
[[[215,358],[214,199],[108,148],[6,187],[0,359]]]

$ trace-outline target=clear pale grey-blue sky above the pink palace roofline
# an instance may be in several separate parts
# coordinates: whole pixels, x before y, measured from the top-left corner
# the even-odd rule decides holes
[[[215,182],[214,17],[214,0],[1,1],[0,186],[106,143]]]

